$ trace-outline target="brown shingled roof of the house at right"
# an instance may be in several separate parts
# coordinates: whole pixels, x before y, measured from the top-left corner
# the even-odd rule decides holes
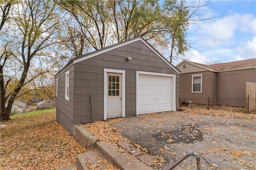
[[[245,59],[240,61],[232,61],[226,63],[218,63],[218,64],[200,64],[192,61],[183,60],[176,67],[180,66],[182,63],[190,63],[197,67],[201,67],[203,69],[207,69],[213,72],[223,72],[223,71],[232,71],[232,70],[241,70],[241,69],[252,69],[256,68],[256,58],[253,59]]]

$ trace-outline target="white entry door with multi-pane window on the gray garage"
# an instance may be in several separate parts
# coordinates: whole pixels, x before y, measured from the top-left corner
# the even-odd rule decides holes
[[[122,117],[122,74],[107,73],[107,119]]]

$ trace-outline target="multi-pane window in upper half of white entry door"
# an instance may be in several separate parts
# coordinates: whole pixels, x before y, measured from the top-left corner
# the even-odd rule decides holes
[[[108,96],[119,96],[120,76],[108,76]]]

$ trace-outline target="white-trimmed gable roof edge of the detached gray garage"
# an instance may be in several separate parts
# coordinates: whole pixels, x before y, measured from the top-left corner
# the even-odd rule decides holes
[[[91,52],[91,53],[88,53],[88,54],[85,54],[85,55],[82,55],[80,57],[71,59],[60,71],[58,71],[58,73],[56,73],[55,77],[58,76],[60,73],[62,73],[62,71],[64,71],[64,69],[66,69],[67,67],[69,67],[72,64],[78,63],[80,61],[89,59],[91,57],[94,57],[94,56],[100,55],[102,53],[106,53],[108,51],[111,51],[112,49],[116,49],[116,48],[122,47],[124,45],[128,45],[128,44],[133,43],[133,42],[137,42],[137,41],[142,41],[156,55],[158,55],[158,57],[160,57],[166,64],[168,64],[172,69],[174,69],[178,74],[180,74],[180,71],[174,65],[172,65],[172,63],[170,63],[162,54],[160,54],[152,45],[150,45],[150,43],[148,43],[142,37],[136,37],[136,38],[132,38],[130,40],[126,40],[124,42],[120,42],[120,43],[117,43],[115,45],[111,45],[109,47],[106,47],[106,48],[103,48],[103,49],[100,49],[100,50],[97,50],[97,51],[94,51],[94,52]]]

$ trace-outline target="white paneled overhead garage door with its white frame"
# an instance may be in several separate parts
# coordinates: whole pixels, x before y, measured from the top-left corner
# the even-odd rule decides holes
[[[136,114],[176,111],[175,75],[137,71]]]

